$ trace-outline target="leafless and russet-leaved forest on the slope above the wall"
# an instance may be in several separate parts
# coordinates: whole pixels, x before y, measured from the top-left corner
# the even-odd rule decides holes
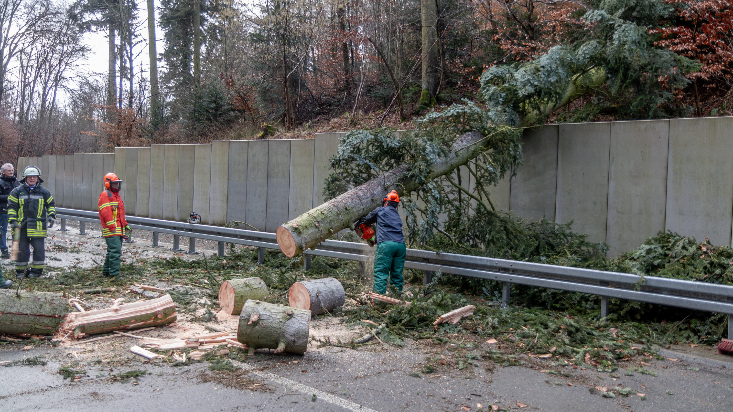
[[[295,138],[410,128],[427,111],[482,100],[484,70],[517,70],[553,46],[580,43],[594,31],[589,12],[611,2],[628,26],[616,36],[645,31],[645,48],[671,50],[696,68],[679,68],[681,84],[645,67],[548,121],[733,113],[729,1],[2,0],[0,160],[262,130]],[[150,41],[155,26],[158,42]],[[108,39],[103,76],[86,67],[89,31]],[[150,69],[141,69],[142,48],[154,56]],[[647,99],[639,82],[658,89],[653,104],[639,102]]]

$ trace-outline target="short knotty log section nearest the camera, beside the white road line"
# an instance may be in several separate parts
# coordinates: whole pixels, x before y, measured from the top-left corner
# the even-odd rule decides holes
[[[275,353],[306,353],[311,311],[248,300],[239,317],[237,341],[257,348],[275,349]]]

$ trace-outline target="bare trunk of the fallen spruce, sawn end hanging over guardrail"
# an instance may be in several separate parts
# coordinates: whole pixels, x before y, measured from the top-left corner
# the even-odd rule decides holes
[[[591,70],[583,76],[575,76],[560,100],[545,102],[539,111],[527,113],[520,119],[516,127],[533,126],[553,111],[603,83],[605,83],[605,70],[600,68]],[[485,138],[479,132],[466,132],[460,135],[451,146],[448,156],[441,157],[430,165],[431,171],[427,181],[451,173],[455,168],[474,159],[487,149],[482,144],[485,144]],[[397,193],[402,196],[416,190],[420,183],[406,180],[402,176],[407,171],[408,165],[400,165],[284,223],[277,229],[277,242],[280,249],[289,258],[298,255],[303,250],[314,249],[321,241],[348,228],[353,222],[366,216],[377,206],[381,206],[382,199],[389,191],[397,190]]]

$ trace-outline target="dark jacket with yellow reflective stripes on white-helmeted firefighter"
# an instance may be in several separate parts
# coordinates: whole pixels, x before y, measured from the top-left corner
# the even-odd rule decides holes
[[[46,237],[46,218],[56,219],[54,196],[40,183],[31,189],[23,183],[7,196],[7,221],[25,226],[28,237]]]

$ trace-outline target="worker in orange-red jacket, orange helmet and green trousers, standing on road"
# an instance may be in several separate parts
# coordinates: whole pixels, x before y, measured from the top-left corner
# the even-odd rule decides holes
[[[122,236],[132,232],[125,220],[125,203],[119,197],[122,180],[114,173],[104,175],[104,191],[99,195],[99,220],[102,222],[102,236],[107,243],[107,255],[104,258],[102,275],[115,277],[119,275],[119,263],[122,261]]]

